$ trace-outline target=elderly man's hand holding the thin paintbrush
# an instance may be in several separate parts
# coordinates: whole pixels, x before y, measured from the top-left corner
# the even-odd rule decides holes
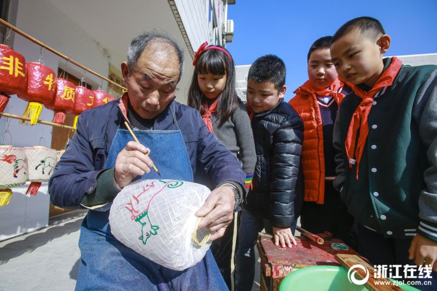
[[[118,154],[114,178],[120,188],[130,184],[132,180],[144,173],[150,173],[153,162],[146,154],[150,149],[136,142],[129,142]]]

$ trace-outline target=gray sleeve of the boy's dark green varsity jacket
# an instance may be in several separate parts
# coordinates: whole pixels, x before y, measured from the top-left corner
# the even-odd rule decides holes
[[[437,237],[437,70],[420,87],[413,107],[420,140],[428,149],[430,167],[425,170],[426,188],[419,196],[418,234],[436,241]],[[431,226],[431,228],[429,228]],[[431,234],[431,233],[433,234]]]

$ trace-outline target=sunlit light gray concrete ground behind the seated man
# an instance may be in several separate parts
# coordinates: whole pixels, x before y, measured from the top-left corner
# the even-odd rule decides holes
[[[0,291],[73,291],[81,253],[84,217],[74,218],[0,242]],[[255,248],[256,249],[256,248]],[[260,259],[253,291],[260,290]]]

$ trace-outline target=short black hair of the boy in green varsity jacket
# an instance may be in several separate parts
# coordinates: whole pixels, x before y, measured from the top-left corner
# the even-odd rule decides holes
[[[376,40],[381,35],[386,34],[386,31],[378,19],[362,16],[343,24],[332,37],[331,44],[354,29],[358,29],[362,36],[371,38],[372,40]]]

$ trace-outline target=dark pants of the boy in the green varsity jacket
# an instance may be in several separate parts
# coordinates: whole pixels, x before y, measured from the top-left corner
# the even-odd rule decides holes
[[[411,241],[409,239],[387,239],[382,234],[372,231],[365,226],[357,224],[358,230],[358,252],[361,256],[368,259],[373,265],[402,265],[399,269],[399,275],[403,278],[393,278],[398,281],[418,281],[419,284],[411,284],[413,287],[428,291],[437,290],[437,272],[432,272],[432,278],[416,278],[404,279],[404,266],[413,265],[416,263],[412,259],[408,259]],[[395,270],[393,269],[393,273]],[[419,272],[415,272],[417,277]],[[387,276],[389,276],[387,272]],[[424,285],[424,281],[431,281],[431,285]],[[402,286],[400,286],[402,288]]]

